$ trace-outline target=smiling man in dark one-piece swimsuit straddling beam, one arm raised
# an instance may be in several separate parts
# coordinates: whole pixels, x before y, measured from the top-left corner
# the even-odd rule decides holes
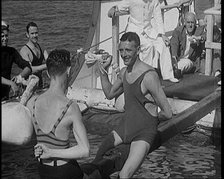
[[[109,149],[122,143],[131,144],[128,158],[118,176],[130,178],[149,152],[157,133],[158,120],[170,119],[172,111],[158,74],[153,67],[139,59],[138,35],[134,32],[123,34],[119,51],[126,67],[121,69],[113,85],[105,73],[112,57],[99,63],[99,68],[102,88],[108,99],[118,97],[124,92],[125,115],[121,123],[102,142],[93,163],[101,160]]]

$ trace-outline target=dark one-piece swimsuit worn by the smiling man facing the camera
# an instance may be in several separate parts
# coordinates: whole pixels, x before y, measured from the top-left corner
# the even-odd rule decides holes
[[[146,103],[153,103],[141,92],[141,82],[145,74],[153,69],[145,71],[135,82],[129,84],[126,72],[123,79],[125,115],[115,131],[124,143],[144,140],[152,145],[157,134],[158,119],[152,116],[146,109]],[[154,103],[153,103],[154,104]]]

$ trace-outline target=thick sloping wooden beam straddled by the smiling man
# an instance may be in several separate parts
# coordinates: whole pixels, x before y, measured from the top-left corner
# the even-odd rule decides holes
[[[209,96],[203,98],[198,103],[194,104],[190,108],[184,110],[183,112],[179,113],[177,116],[172,118],[171,120],[164,122],[159,125],[158,128],[158,135],[156,136],[155,142],[153,143],[150,152],[157,149],[161,146],[164,142],[187,128],[191,126],[200,118],[214,110],[215,108],[219,108],[221,105],[221,89],[216,90]],[[111,158],[104,158],[96,165],[92,166],[93,164],[84,164],[81,165],[81,168],[84,168],[83,171],[86,171],[86,166],[91,166],[93,168],[92,172],[89,176],[98,174],[97,177],[109,177],[110,174],[119,171],[125,160],[128,157],[130,145],[119,145],[117,147],[118,153],[120,155],[112,156]],[[83,167],[84,166],[84,167]],[[95,167],[95,170],[94,170]],[[89,171],[89,169],[87,170]],[[95,171],[95,172],[93,172]],[[97,171],[97,172],[96,172]]]

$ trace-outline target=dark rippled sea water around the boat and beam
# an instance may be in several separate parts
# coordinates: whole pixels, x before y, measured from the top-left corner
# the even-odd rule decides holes
[[[84,46],[88,36],[92,1],[2,1],[2,19],[10,25],[9,44],[17,50],[27,42],[28,22],[39,27],[39,43],[48,52],[65,48],[71,53]],[[15,68],[16,69],[16,68]],[[14,70],[13,73],[17,71]],[[88,130],[88,129],[87,129]],[[221,178],[221,147],[214,146],[210,132],[194,130],[179,134],[150,153],[135,178]],[[91,162],[104,136],[88,133]],[[32,140],[25,146],[2,143],[1,178],[39,179]],[[111,175],[115,178],[116,173]]]

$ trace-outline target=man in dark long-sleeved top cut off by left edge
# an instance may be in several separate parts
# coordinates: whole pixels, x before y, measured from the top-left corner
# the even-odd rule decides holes
[[[16,84],[16,79],[27,77],[31,72],[29,62],[25,61],[15,48],[8,46],[9,25],[2,21],[2,40],[1,40],[1,100],[9,99],[10,89],[13,91],[13,96],[18,95],[19,87]],[[22,72],[11,80],[11,71],[13,63],[20,67]]]

